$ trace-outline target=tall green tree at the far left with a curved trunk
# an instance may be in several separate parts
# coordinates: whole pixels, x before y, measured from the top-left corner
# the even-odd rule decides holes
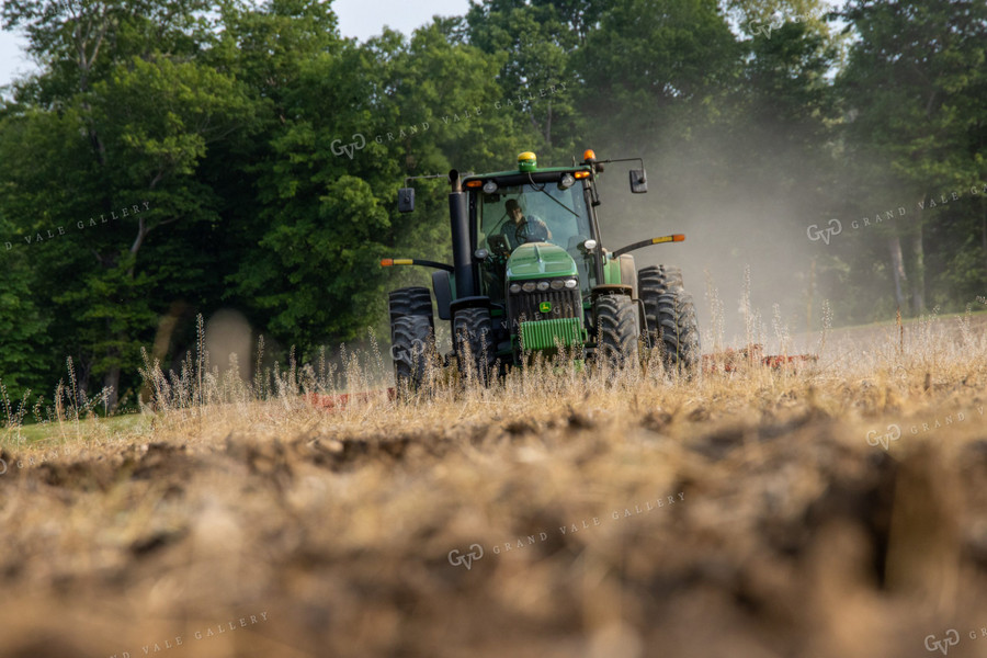
[[[154,292],[164,274],[144,266],[140,252],[163,226],[217,220],[214,196],[195,181],[196,167],[211,144],[252,120],[251,103],[232,78],[193,61],[212,39],[206,7],[4,3],[7,26],[23,26],[30,50],[57,63],[18,88],[10,112],[22,123],[47,124],[57,136],[18,145],[21,154],[45,162],[42,169],[50,174],[42,179],[12,172],[20,193],[46,208],[35,215],[37,222],[149,205],[125,215],[129,218],[120,223],[120,230],[90,231],[90,262],[69,256],[67,241],[58,247],[64,258],[52,260],[49,274],[63,290],[50,299],[59,313],[76,311],[81,325],[77,336],[88,352],[80,355],[83,378],[90,372],[102,376],[103,385],[112,387],[111,402],[121,373],[136,370],[139,345],[152,331],[155,309],[163,304]],[[18,107],[47,113],[19,114]],[[67,269],[75,276],[64,276]]]

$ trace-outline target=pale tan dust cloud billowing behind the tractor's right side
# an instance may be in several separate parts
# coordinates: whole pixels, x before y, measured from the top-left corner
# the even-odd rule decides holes
[[[831,269],[838,253],[859,243],[844,239],[837,246],[839,237],[829,245],[810,239],[815,232],[810,226],[825,229],[829,218],[848,219],[846,208],[820,192],[818,184],[792,184],[818,178],[819,172],[809,167],[793,171],[798,167],[795,156],[776,158],[776,173],[771,162],[745,168],[744,154],[710,141],[715,140],[696,139],[658,155],[648,147],[635,152],[598,148],[601,159],[643,157],[648,173],[648,193],[632,194],[627,171],[637,164],[606,166],[599,179],[603,243],[614,250],[636,240],[685,234],[684,242],[645,248],[634,257],[638,268],[682,269],[687,291],[695,300],[704,351],[714,347],[714,338],[724,347],[753,341],[781,348],[780,337],[820,328],[824,300],[839,294],[832,275],[824,276],[822,264]],[[723,180],[725,159],[737,161],[730,180]],[[717,169],[711,162],[719,162]],[[882,292],[875,287],[874,295]],[[840,318],[833,321],[839,324]],[[803,345],[796,341],[789,347]]]

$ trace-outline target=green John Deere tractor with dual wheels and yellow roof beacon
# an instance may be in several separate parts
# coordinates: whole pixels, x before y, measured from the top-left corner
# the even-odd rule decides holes
[[[571,167],[538,168],[535,155],[518,169],[449,173],[453,263],[384,259],[381,264],[433,268],[432,291],[390,293],[392,354],[399,386],[419,386],[435,319],[452,322],[453,360],[486,383],[495,367],[565,349],[574,359],[623,367],[650,350],[677,370],[700,359],[699,329],[682,273],[671,265],[637,270],[631,251],[684,240],[650,238],[603,247],[597,178],[610,162],[636,161],[631,192],[647,192],[639,158],[598,160],[592,150]],[[421,177],[436,178],[436,177]],[[408,181],[406,180],[406,185]],[[415,189],[398,191],[398,209],[415,209]]]

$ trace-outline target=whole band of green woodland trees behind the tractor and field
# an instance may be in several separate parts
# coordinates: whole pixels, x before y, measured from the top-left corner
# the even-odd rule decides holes
[[[962,308],[987,283],[983,2],[483,0],[365,43],[319,0],[5,0],[0,18],[42,65],[0,104],[13,395],[66,356],[82,388],[136,389],[169,314],[166,365],[223,307],[303,356],[379,336],[386,290],[427,275],[377,260],[451,258],[442,182],[413,183],[409,218],[401,181],[529,149],[640,155],[658,214],[741,204],[772,235],[909,204],[816,256],[818,284],[785,257],[809,299],[849,291],[847,321]],[[965,203],[929,203],[953,190]],[[722,260],[772,259],[762,242]]]

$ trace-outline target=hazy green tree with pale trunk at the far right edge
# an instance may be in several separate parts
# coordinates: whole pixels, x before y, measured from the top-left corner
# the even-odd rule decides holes
[[[886,245],[896,303],[918,314],[926,307],[924,237],[942,211],[939,203],[930,207],[941,191],[987,178],[976,146],[984,131],[978,93],[984,90],[987,5],[852,0],[842,15],[858,35],[839,78],[849,115],[851,191],[872,198],[870,190],[880,186],[894,191],[892,204],[916,208],[893,227]]]

